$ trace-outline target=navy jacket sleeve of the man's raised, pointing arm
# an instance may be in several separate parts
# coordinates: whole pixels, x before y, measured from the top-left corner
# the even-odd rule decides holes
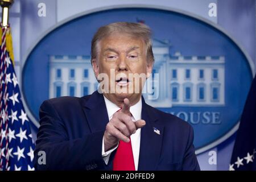
[[[34,151],[36,170],[99,170],[106,167],[102,159],[104,131],[69,140],[51,100],[44,101],[40,106],[39,117],[40,127]],[[42,164],[44,158],[46,163]]]

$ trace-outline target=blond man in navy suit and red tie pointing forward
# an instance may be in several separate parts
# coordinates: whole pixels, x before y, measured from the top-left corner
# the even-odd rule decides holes
[[[100,89],[43,102],[36,169],[200,170],[192,127],[142,97],[154,64],[150,36],[142,23],[99,28],[91,61]],[[46,164],[38,163],[39,151]]]

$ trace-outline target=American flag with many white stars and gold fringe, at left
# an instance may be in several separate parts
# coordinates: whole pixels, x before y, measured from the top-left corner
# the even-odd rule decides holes
[[[35,145],[14,71],[10,27],[0,26],[0,171],[34,170]]]

